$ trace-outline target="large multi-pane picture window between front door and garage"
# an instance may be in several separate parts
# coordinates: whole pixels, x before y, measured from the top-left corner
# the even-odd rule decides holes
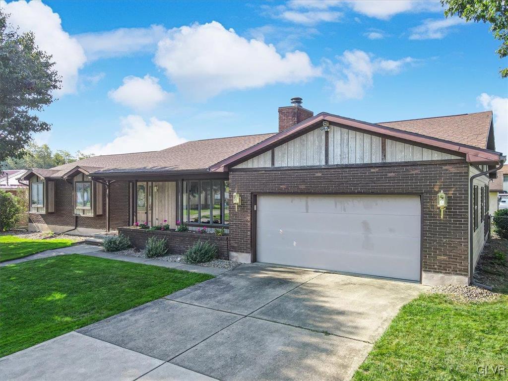
[[[183,223],[190,225],[228,224],[229,183],[227,180],[183,181],[181,189]]]

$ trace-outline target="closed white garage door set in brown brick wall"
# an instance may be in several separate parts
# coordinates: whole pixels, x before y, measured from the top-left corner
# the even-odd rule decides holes
[[[257,261],[420,280],[418,196],[258,196]]]

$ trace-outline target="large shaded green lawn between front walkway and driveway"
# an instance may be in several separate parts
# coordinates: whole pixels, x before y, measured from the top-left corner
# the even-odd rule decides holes
[[[213,278],[82,255],[0,268],[0,357]]]

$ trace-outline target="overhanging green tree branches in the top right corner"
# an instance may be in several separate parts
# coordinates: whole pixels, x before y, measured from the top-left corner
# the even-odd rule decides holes
[[[501,41],[496,50],[499,58],[508,55],[508,1],[506,0],[441,0],[441,5],[448,6],[444,11],[446,17],[457,15],[466,21],[488,22],[494,38]],[[502,78],[508,77],[508,68],[499,71]]]

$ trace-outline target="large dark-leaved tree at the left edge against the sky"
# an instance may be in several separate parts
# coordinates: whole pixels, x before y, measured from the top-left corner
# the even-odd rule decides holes
[[[34,133],[50,130],[34,113],[53,102],[52,92],[60,88],[54,65],[34,34],[20,35],[0,10],[0,163],[22,157]]]

